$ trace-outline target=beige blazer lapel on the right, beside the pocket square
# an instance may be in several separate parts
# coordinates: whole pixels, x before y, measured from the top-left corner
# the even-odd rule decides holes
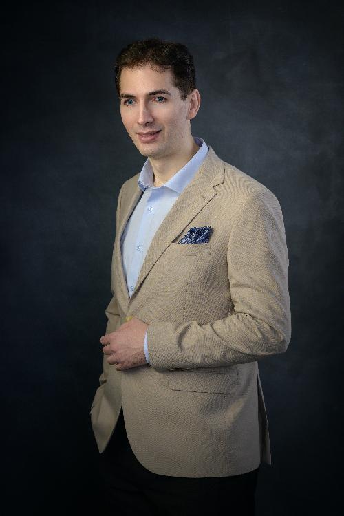
[[[142,281],[147,277],[149,271],[164,250],[166,250],[169,244],[178,237],[197,213],[216,195],[216,190],[213,187],[217,184],[221,184],[223,181],[224,163],[217,157],[213,149],[209,147],[208,155],[200,166],[199,171],[197,171],[193,180],[191,180],[184,191],[182,191],[156,231],[151,245],[147,250],[147,255],[144,258],[133,294],[131,298],[128,296],[129,301],[135,297]],[[133,203],[131,203],[131,209],[132,207]],[[127,290],[127,286],[125,286],[125,288]]]

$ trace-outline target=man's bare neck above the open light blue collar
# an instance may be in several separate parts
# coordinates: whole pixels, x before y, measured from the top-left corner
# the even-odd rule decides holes
[[[153,186],[162,186],[173,177],[180,169],[188,163],[195,153],[200,149],[192,135],[186,141],[182,149],[178,149],[177,153],[164,156],[161,160],[153,160],[149,158],[153,169]]]

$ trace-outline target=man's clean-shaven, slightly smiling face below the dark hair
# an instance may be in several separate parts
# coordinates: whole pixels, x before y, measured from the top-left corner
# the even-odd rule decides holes
[[[120,97],[122,122],[142,155],[158,159],[180,152],[195,115],[189,114],[190,96],[183,102],[173,86],[171,70],[160,72],[151,65],[122,69]],[[159,132],[142,136],[152,131]]]

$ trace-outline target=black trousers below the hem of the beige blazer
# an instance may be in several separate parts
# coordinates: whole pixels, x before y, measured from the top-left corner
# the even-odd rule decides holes
[[[255,515],[259,467],[231,477],[184,478],[151,473],[131,450],[122,409],[100,457],[99,514],[120,516]]]

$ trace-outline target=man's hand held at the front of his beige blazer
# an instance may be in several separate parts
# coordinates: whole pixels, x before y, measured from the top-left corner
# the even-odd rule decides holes
[[[133,317],[122,324],[116,332],[108,333],[100,338],[103,344],[103,353],[107,355],[107,362],[115,365],[117,371],[138,367],[147,364],[144,355],[144,335],[148,325]]]

